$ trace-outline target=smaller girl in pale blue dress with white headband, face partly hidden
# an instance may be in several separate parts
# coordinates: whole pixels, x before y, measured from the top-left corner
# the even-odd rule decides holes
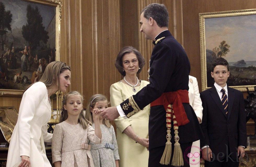
[[[88,119],[95,127],[93,119],[93,113],[95,109],[105,109],[108,107],[108,99],[106,96],[96,94],[90,97],[87,107],[85,118]],[[102,141],[100,144],[94,144],[93,141],[89,141],[91,145],[91,155],[95,167],[108,166],[108,167],[119,167],[118,160],[118,146],[117,139],[115,137],[114,127],[106,119],[102,119],[100,116],[100,128],[102,132]]]

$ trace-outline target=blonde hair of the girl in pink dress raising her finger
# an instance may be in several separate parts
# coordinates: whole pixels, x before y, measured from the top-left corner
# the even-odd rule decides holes
[[[68,118],[68,112],[67,110],[64,109],[64,105],[67,104],[67,100],[70,96],[74,96],[74,95],[78,95],[81,97],[81,102],[82,102],[82,105],[83,105],[83,96],[77,92],[77,91],[71,91],[71,92],[68,92],[64,97],[63,97],[63,100],[62,100],[62,109],[61,109],[61,116],[60,116],[60,122],[63,122],[65,121],[67,118]],[[83,109],[82,109],[83,110]],[[85,117],[84,117],[84,114],[83,112],[81,111],[80,112],[80,115],[78,117],[78,123],[80,123],[83,127],[83,129],[87,129],[88,128],[88,125],[91,124]]]

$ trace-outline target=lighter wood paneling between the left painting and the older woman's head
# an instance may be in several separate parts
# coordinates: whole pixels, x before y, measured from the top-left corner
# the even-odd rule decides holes
[[[120,2],[65,0],[64,5],[61,37],[67,41],[61,53],[72,69],[69,90],[84,95],[85,108],[93,94],[109,97],[111,81],[120,78],[114,66],[121,46]]]

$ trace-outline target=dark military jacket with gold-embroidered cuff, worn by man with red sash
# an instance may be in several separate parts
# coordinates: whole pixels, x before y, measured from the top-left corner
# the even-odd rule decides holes
[[[155,41],[161,37],[165,38],[155,44]],[[163,92],[189,89],[190,63],[181,44],[174,39],[168,30],[161,32],[155,38],[155,41],[153,42],[155,47],[150,58],[150,84],[120,104],[128,117],[160,97]],[[202,131],[191,106],[187,103],[183,103],[183,106],[190,122],[179,126],[179,143],[193,142],[202,137]],[[164,106],[151,107],[149,116],[149,149],[165,145],[166,130],[166,111]],[[175,143],[173,131],[172,126],[172,144]]]

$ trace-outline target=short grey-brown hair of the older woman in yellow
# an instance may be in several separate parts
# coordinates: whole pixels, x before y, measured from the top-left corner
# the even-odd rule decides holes
[[[143,68],[143,66],[145,65],[145,59],[142,57],[141,53],[135,49],[132,46],[125,46],[123,49],[120,50],[120,52],[117,55],[117,59],[115,60],[115,67],[117,68],[117,70],[120,72],[120,74],[122,76],[125,76],[126,73],[124,71],[124,67],[123,67],[123,57],[125,54],[127,53],[134,53],[139,61],[139,70],[137,72],[137,74],[139,74]]]

